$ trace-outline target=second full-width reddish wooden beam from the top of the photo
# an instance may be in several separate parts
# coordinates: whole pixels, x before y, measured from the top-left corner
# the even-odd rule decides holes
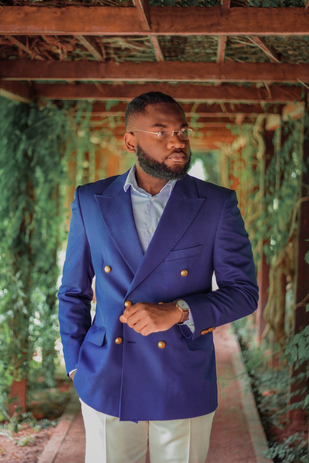
[[[309,82],[309,63],[98,63],[96,61],[6,60],[8,81]]]

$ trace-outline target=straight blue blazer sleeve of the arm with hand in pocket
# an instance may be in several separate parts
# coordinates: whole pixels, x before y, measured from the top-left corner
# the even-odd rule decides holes
[[[91,325],[91,287],[95,271],[79,202],[79,188],[71,204],[68,244],[58,292],[60,336],[67,374],[76,368],[79,350]]]

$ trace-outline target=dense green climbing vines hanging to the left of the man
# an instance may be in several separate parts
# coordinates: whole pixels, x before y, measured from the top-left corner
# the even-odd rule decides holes
[[[66,237],[69,156],[76,155],[72,181],[93,181],[97,144],[91,141],[91,103],[64,102],[59,108],[47,101],[38,108],[1,98],[0,108],[0,410],[5,411],[14,380],[27,379],[28,389],[56,385],[57,254]],[[98,143],[103,142],[100,134]]]

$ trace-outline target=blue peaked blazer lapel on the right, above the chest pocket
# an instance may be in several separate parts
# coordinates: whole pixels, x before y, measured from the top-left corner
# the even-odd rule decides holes
[[[143,282],[174,248],[195,219],[204,200],[199,198],[192,177],[186,175],[177,181],[128,293]]]

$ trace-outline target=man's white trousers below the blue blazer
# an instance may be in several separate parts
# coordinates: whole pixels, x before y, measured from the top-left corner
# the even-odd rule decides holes
[[[205,463],[214,412],[133,423],[97,412],[80,401],[86,430],[85,463],[145,463],[148,455],[150,463]]]

